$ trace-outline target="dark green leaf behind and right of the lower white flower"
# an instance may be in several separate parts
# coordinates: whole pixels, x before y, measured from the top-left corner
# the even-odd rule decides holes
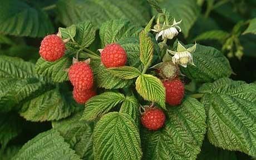
[[[232,73],[228,59],[217,49],[196,45],[192,54],[195,66],[182,67],[181,71],[198,82],[212,82],[222,77],[229,77]]]

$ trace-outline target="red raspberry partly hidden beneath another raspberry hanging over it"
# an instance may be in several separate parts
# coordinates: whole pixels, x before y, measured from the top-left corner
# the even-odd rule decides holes
[[[85,90],[79,90],[74,88],[73,90],[73,98],[77,103],[83,104],[91,97],[95,96],[96,92],[93,89],[85,89]]]

